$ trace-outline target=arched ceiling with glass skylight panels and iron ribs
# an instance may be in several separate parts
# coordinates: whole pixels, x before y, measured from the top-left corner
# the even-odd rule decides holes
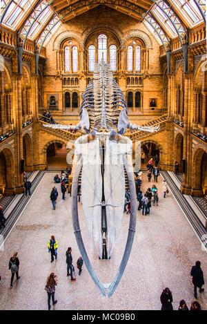
[[[1,23],[18,30],[19,46],[29,38],[39,52],[61,23],[100,5],[144,21],[165,48],[175,37],[183,44],[206,17],[206,0],[1,0]]]

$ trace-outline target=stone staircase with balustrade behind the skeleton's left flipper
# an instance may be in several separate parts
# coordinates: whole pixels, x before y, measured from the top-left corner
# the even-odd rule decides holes
[[[44,120],[48,120],[48,122],[44,122]],[[55,135],[59,138],[61,138],[61,140],[77,140],[77,138],[81,135],[81,133],[79,131],[66,131],[64,129],[55,129],[55,128],[49,128],[49,127],[45,127],[43,126],[48,125],[49,124],[49,118],[43,116],[43,115],[39,115],[39,125],[41,128],[41,131],[45,131],[46,133],[50,133],[52,135]]]

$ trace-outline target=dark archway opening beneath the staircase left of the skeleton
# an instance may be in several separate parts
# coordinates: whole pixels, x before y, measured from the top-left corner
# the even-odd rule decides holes
[[[51,169],[66,168],[66,144],[59,141],[54,141],[48,144],[46,148],[46,164]]]

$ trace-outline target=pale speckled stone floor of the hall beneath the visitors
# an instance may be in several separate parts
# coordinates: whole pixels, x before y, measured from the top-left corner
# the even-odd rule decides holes
[[[59,282],[58,303],[54,309],[160,309],[159,296],[164,287],[171,289],[175,309],[181,299],[188,305],[194,301],[190,269],[196,260],[201,260],[207,282],[206,252],[202,251],[172,195],[166,199],[162,197],[161,176],[159,206],[152,207],[150,216],[137,212],[137,231],[126,271],[115,294],[106,298],[95,287],[86,267],[83,266],[76,282],[71,283],[66,276],[66,249],[72,247],[74,265],[79,250],[72,229],[71,198],[67,196],[66,200],[61,200],[59,184],[57,209],[52,210],[50,190],[54,175],[46,173],[6,240],[5,250],[0,251],[0,309],[47,309],[44,287],[51,271],[55,271]],[[144,189],[148,187],[145,178],[143,175]],[[99,278],[110,283],[126,245],[129,216],[124,214],[123,229],[110,260],[99,260],[95,255],[81,215],[81,202],[79,216],[88,256]],[[47,242],[52,234],[59,241],[59,254],[57,261],[51,264]],[[14,251],[19,253],[21,279],[14,281],[10,289],[8,260]],[[207,292],[199,294],[198,301],[207,309]]]

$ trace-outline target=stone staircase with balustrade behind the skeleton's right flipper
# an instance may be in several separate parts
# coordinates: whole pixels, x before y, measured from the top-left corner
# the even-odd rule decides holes
[[[155,120],[150,120],[150,122],[146,122],[144,124],[141,124],[141,126],[158,126],[159,125],[159,132],[164,131],[166,129],[166,122],[168,119],[168,114],[161,115]],[[157,132],[156,132],[157,133]],[[135,140],[143,140],[144,137],[147,136],[152,136],[152,133],[148,133],[147,131],[132,131],[132,133],[126,133],[128,137],[130,137],[130,140],[135,141]]]

